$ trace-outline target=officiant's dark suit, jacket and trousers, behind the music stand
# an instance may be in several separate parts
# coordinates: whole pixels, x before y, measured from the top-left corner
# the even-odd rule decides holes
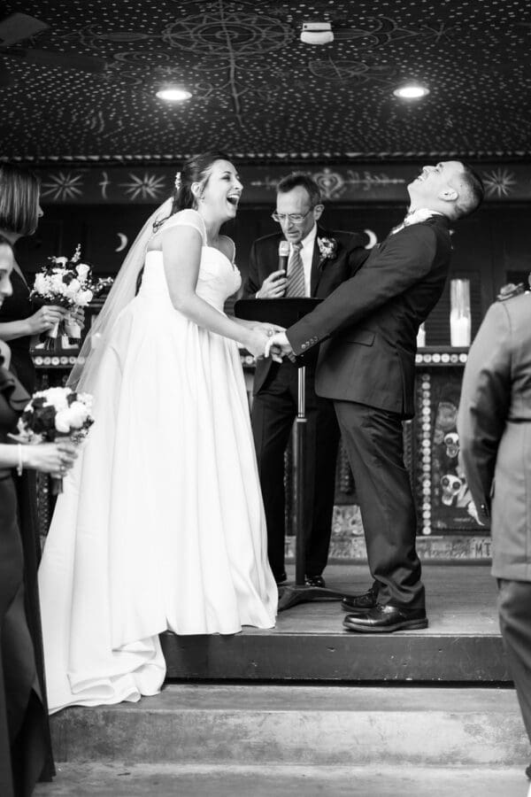
[[[322,259],[318,238],[334,239],[334,257]],[[250,252],[250,274],[244,296],[254,298],[267,276],[278,270],[279,243],[283,236],[259,238]],[[317,228],[312,270],[312,297],[325,298],[361,266],[368,251],[363,234]],[[267,301],[265,299],[265,301]],[[335,493],[335,462],[339,427],[332,402],[315,395],[313,381],[317,352],[306,368],[306,462],[304,495],[309,528],[306,573],[319,576],[327,565]],[[273,575],[284,571],[285,504],[284,451],[296,417],[298,368],[284,358],[281,363],[258,360],[254,379],[252,429],[258,457],[260,482],[266,507],[268,555]]]

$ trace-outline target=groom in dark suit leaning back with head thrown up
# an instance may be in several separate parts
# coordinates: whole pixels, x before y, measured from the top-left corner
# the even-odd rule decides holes
[[[402,422],[414,414],[416,337],[443,292],[449,222],[483,197],[469,166],[425,166],[408,186],[410,212],[348,282],[272,338],[303,361],[321,344],[315,388],[334,399],[364,524],[371,589],[343,599],[348,631],[425,628],[417,520],[404,467]],[[325,343],[323,343],[325,342]]]

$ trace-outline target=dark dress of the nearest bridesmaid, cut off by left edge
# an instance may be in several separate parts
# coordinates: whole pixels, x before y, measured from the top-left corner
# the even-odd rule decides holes
[[[27,392],[0,361],[0,442],[16,427]],[[34,645],[27,624],[24,553],[12,472],[0,468],[0,794],[27,797],[49,756]]]

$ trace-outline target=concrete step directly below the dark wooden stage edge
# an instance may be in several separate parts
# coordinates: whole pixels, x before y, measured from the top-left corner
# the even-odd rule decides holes
[[[56,759],[179,766],[516,767],[529,743],[509,688],[169,685],[52,717]],[[480,792],[478,792],[480,793]]]

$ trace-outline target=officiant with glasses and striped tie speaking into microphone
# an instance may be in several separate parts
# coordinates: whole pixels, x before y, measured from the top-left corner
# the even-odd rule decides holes
[[[366,259],[366,236],[327,230],[319,186],[307,174],[294,173],[277,186],[273,219],[281,231],[259,238],[250,251],[249,277],[243,298],[328,296]],[[279,244],[289,242],[287,273],[278,270]],[[325,586],[335,491],[339,429],[334,407],[313,388],[315,362],[308,362],[305,382],[305,462],[311,526],[306,547],[306,582]],[[268,555],[277,584],[286,580],[284,567],[284,452],[297,413],[297,371],[288,359],[258,360],[253,385],[252,429],[266,507]]]

